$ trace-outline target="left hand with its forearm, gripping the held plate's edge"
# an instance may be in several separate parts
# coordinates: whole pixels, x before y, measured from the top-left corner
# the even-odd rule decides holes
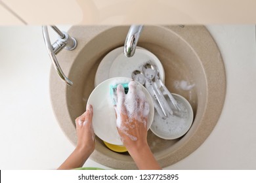
[[[75,119],[78,139],[77,147],[66,161],[58,167],[59,170],[82,167],[95,150],[95,133],[93,131],[92,119],[93,107],[89,105],[85,113]]]

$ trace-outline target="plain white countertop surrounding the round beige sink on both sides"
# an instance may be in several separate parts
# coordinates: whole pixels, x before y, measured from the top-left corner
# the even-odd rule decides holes
[[[223,113],[198,150],[166,169],[256,169],[255,25],[207,28],[226,67]],[[0,169],[56,169],[74,146],[51,108],[41,27],[0,27],[0,40]],[[106,168],[91,159],[85,166]]]

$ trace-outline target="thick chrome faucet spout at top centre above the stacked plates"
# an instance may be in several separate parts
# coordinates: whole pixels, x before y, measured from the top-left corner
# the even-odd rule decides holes
[[[142,31],[143,25],[131,25],[127,37],[125,39],[125,45],[123,48],[123,54],[125,56],[132,57],[135,54],[135,49]]]

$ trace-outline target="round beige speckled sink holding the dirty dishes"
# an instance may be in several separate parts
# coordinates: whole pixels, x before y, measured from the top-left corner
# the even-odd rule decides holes
[[[60,127],[74,145],[75,118],[85,111],[95,88],[96,69],[108,52],[123,46],[128,30],[129,26],[74,26],[69,33],[77,39],[77,48],[57,55],[74,85],[67,86],[51,69],[51,100]],[[146,25],[138,46],[160,59],[165,85],[172,93],[185,97],[194,111],[190,130],[179,139],[160,139],[148,131],[154,156],[161,167],[167,167],[194,152],[217,124],[226,92],[223,59],[210,33],[201,25]],[[114,169],[137,169],[128,152],[114,152],[98,138],[91,159]]]

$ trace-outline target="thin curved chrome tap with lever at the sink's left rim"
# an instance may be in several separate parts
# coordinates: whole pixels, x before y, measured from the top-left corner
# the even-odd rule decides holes
[[[66,84],[72,86],[73,82],[69,78],[67,78],[66,75],[64,75],[62,69],[60,68],[60,65],[58,64],[56,54],[58,54],[58,52],[60,52],[60,50],[62,50],[63,48],[70,51],[74,50],[75,47],[77,46],[77,42],[74,39],[74,37],[70,37],[68,33],[64,31],[60,31],[58,27],[54,25],[51,25],[51,27],[59,35],[59,37],[58,37],[58,40],[55,41],[52,45],[49,38],[47,25],[43,26],[42,29],[43,29],[43,39],[45,40],[45,46],[47,48],[51,61],[53,62],[55,71],[58,73],[60,78],[62,78],[62,80],[66,82]]]

